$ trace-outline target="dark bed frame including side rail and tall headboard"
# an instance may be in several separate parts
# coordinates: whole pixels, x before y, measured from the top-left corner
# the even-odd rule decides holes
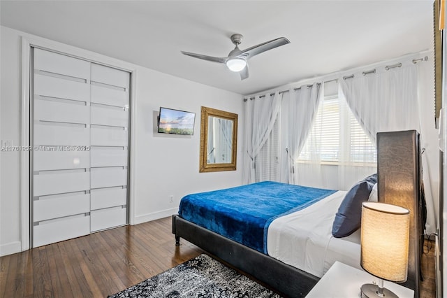
[[[381,136],[379,136],[381,134]],[[420,165],[419,145],[416,131],[379,133],[377,136],[378,151],[378,192],[379,201],[389,204],[404,205],[409,208],[411,214],[410,227],[410,251],[408,281],[403,285],[415,291],[415,297],[419,297],[420,284],[420,253],[421,250],[421,224],[420,224]],[[400,155],[402,145],[408,150]],[[398,157],[396,156],[399,155]],[[408,157],[407,155],[410,155]],[[406,162],[402,162],[405,160]],[[388,169],[394,169],[392,175],[386,174]],[[396,175],[404,173],[404,175]],[[403,176],[403,177],[402,177]],[[402,185],[402,179],[407,179],[403,184],[412,187],[405,191],[405,195],[393,196],[393,185]],[[208,229],[200,227],[188,220],[173,215],[173,234],[175,243],[179,245],[179,239],[183,238],[208,253],[228,262],[235,268],[253,276],[270,288],[273,288],[285,297],[305,297],[318,282],[319,278],[305,271],[280,262],[268,255],[251,249],[233,240],[227,239]],[[359,285],[360,288],[360,285]]]

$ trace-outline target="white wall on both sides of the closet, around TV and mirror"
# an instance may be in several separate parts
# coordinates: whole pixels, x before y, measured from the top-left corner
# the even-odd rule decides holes
[[[0,139],[20,146],[22,36],[38,37],[7,27],[0,27],[0,36]],[[237,148],[237,171],[198,172],[200,106],[237,113],[237,138],[242,143],[242,96],[142,66],[135,66],[135,70],[130,169],[135,204],[131,206],[131,223],[176,213],[185,194],[242,184],[241,146]],[[160,106],[195,112],[193,136],[157,134],[154,117]],[[21,208],[25,206],[20,205],[20,153],[0,152],[0,255],[22,250]],[[171,194],[174,203],[169,202]]]

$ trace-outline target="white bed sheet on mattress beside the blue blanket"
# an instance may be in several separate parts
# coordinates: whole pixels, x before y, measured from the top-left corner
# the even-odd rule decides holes
[[[338,191],[300,211],[273,220],[268,228],[268,255],[321,277],[335,263],[360,267],[360,229],[332,236],[332,223],[346,192]]]

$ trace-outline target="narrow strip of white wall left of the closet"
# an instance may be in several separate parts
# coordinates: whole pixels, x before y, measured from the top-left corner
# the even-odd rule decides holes
[[[0,27],[0,136],[20,144],[20,41]],[[20,251],[20,152],[0,152],[0,255]]]

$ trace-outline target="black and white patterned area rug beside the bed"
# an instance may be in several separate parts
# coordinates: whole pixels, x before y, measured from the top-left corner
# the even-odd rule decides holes
[[[121,297],[280,297],[207,255],[142,281],[110,298]]]

